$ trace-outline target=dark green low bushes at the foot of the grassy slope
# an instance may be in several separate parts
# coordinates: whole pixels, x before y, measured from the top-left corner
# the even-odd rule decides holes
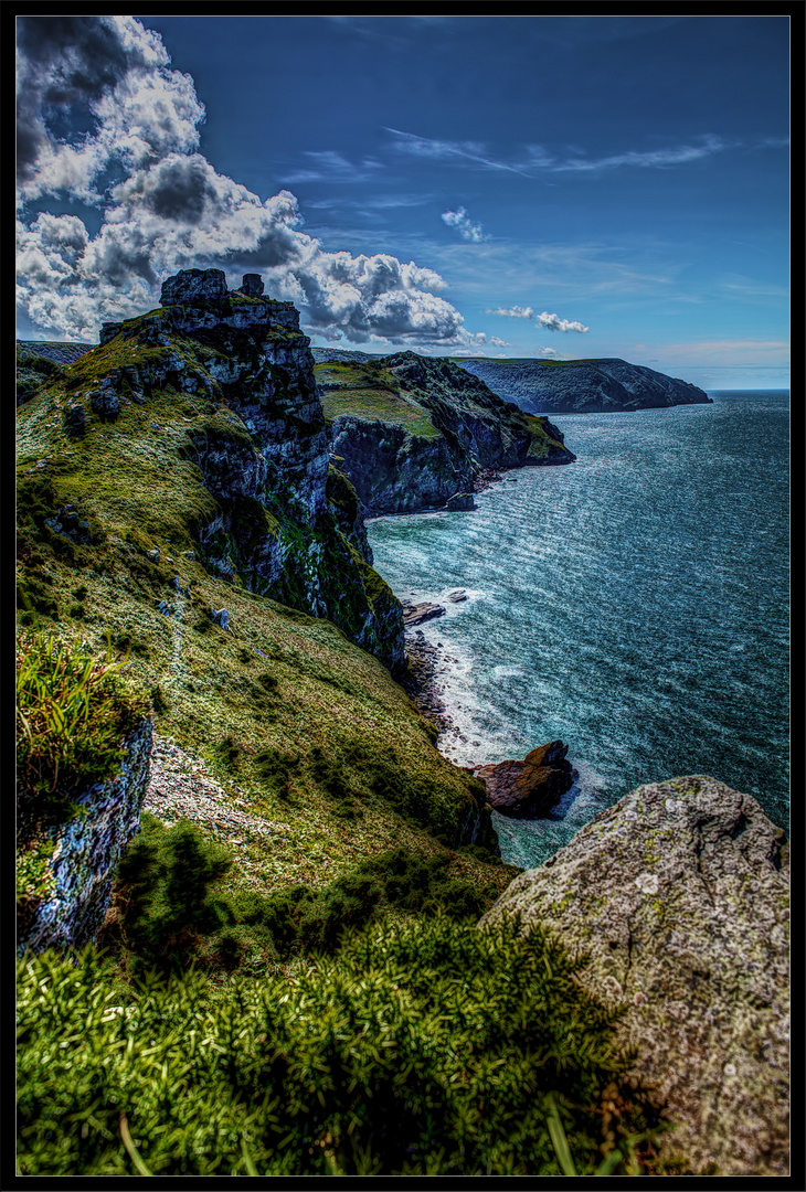
[[[231,863],[193,824],[167,828],[144,815],[117,871],[117,927],[103,942],[131,973],[179,970],[192,960],[211,970],[255,971],[272,961],[333,954],[348,929],[388,908],[477,920],[497,895],[492,883],[464,876],[447,853],[395,849],[326,887],[286,886],[268,895],[223,895]]]

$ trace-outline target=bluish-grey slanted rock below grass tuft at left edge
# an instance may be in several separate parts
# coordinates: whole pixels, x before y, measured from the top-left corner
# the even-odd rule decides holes
[[[92,786],[75,800],[79,813],[48,830],[52,852],[41,888],[18,904],[19,952],[82,948],[94,939],[118,861],[140,831],[151,734],[151,720],[142,720],[125,739],[118,776]]]

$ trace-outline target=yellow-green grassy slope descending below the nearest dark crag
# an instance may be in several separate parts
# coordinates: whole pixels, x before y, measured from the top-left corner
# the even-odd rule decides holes
[[[193,557],[194,530],[216,502],[184,458],[187,432],[237,437],[240,420],[166,389],[116,422],[93,418],[82,439],[64,434],[70,380],[87,384],[129,350],[118,341],[95,349],[18,411],[24,619],[55,616],[61,632],[99,650],[107,637],[130,648],[155,694],[157,728],[284,826],[283,848],[244,845],[232,881],[323,883],[392,845],[440,850],[426,827],[454,837],[478,788],[438,753],[385,668],[330,622],[218,581]],[[46,527],[64,503],[88,523],[88,544]],[[232,632],[210,619],[223,607]],[[479,882],[503,887],[512,876],[471,858],[461,865]]]

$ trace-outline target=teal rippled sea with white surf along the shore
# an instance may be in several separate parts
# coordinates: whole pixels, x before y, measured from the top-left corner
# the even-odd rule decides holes
[[[460,765],[560,738],[579,772],[551,819],[494,813],[531,868],[627,791],[711,775],[788,825],[789,395],[556,415],[577,461],[522,468],[463,513],[367,523],[401,600],[467,600],[441,645]],[[514,482],[514,483],[513,483]]]

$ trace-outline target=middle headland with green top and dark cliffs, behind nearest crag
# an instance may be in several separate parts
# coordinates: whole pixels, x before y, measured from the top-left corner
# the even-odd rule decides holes
[[[547,418],[450,361],[403,352],[323,360],[316,372],[330,451],[370,514],[472,508],[483,471],[575,459]]]

